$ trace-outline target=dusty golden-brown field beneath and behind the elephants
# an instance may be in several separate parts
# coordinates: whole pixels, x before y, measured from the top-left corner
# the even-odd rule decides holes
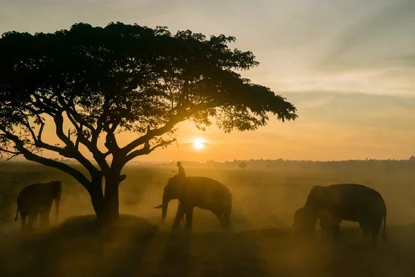
[[[192,234],[171,233],[177,202],[160,226],[163,186],[172,168],[129,166],[120,188],[116,226],[100,231],[89,195],[63,173],[30,163],[0,163],[0,276],[415,276],[415,183],[403,172],[318,172],[186,168],[211,177],[233,195],[230,232],[198,208]],[[32,235],[14,222],[19,190],[63,182],[59,224]],[[388,242],[360,249],[360,229],[342,223],[340,245],[304,244],[291,232],[293,213],[314,185],[356,182],[376,188],[388,208]],[[54,211],[52,212],[52,216]],[[20,218],[19,218],[20,220]]]

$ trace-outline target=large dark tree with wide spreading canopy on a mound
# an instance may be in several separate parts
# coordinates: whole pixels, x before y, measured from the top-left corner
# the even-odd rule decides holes
[[[119,22],[4,33],[0,151],[68,173],[88,190],[98,218],[115,219],[124,165],[171,144],[181,121],[204,129],[216,120],[232,132],[264,126],[270,114],[283,122],[297,118],[286,98],[236,72],[259,63],[250,51],[228,48],[233,41]],[[48,125],[55,141],[42,136]],[[120,145],[122,132],[135,139]],[[45,150],[75,159],[85,170],[48,159]]]

